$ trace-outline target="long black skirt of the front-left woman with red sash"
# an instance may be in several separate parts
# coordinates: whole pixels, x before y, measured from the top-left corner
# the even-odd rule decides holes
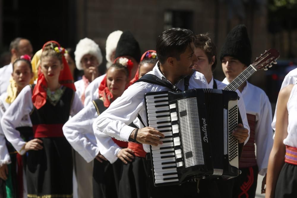
[[[27,157],[28,197],[72,197],[72,148],[65,137],[39,138],[43,149]]]

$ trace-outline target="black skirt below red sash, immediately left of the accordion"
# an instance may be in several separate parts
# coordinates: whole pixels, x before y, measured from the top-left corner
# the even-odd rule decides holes
[[[143,157],[134,157],[133,161],[128,164],[121,163],[123,172],[120,180],[119,198],[147,197],[146,159]]]

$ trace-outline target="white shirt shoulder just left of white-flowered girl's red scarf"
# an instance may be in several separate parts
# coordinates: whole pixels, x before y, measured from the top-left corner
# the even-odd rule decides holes
[[[85,102],[83,103],[83,106],[86,107],[89,102],[92,100],[95,100],[99,98],[99,85],[102,82],[103,78],[106,76],[106,74],[103,74],[102,76],[99,76],[95,78],[86,88],[85,91]]]

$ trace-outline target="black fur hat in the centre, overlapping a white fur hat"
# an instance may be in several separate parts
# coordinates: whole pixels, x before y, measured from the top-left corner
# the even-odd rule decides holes
[[[124,31],[116,46],[116,58],[119,56],[131,56],[140,62],[140,47],[130,31]]]

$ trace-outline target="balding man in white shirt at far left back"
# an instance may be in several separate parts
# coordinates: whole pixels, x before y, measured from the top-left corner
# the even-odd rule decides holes
[[[11,62],[8,65],[3,66],[0,68],[0,95],[6,92],[7,87],[9,85],[9,79],[12,74],[12,63],[15,61],[16,58],[28,54],[29,56],[33,56],[33,48],[28,39],[24,38],[15,38],[9,46],[9,50],[11,53]]]

